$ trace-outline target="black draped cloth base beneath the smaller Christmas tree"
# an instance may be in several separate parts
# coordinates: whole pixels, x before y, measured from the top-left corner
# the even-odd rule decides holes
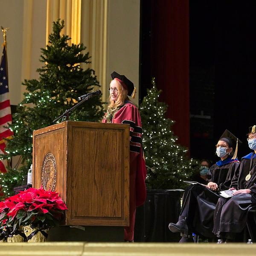
[[[182,195],[181,191],[147,190],[145,204],[136,210],[134,241],[179,241],[180,233],[172,233],[168,225],[179,218]]]

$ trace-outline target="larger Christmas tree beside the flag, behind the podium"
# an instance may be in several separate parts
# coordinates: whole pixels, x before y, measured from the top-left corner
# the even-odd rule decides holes
[[[19,166],[13,169],[9,166],[8,172],[0,175],[5,195],[12,195],[13,187],[21,184],[22,176],[32,164],[33,131],[52,125],[55,118],[76,105],[79,96],[99,87],[96,76],[92,75],[94,71],[81,68],[82,63],[90,63],[89,53],[83,53],[86,47],[83,44],[69,45],[71,38],[60,34],[63,28],[63,20],[53,23],[48,45],[41,49],[40,61],[44,66],[37,70],[39,79],[23,82],[27,92],[13,115],[12,125],[9,125],[14,136],[7,141],[6,155],[1,155],[8,160],[20,156]],[[76,108],[69,119],[98,122],[102,116],[101,99],[95,96]]]

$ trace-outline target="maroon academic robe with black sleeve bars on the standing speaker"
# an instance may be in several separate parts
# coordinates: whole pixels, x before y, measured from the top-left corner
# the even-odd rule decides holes
[[[107,122],[103,118],[102,122]],[[134,239],[134,223],[136,207],[144,204],[146,199],[146,166],[142,149],[142,126],[140,113],[132,102],[117,111],[112,123],[130,125],[130,226],[125,227],[125,240]]]

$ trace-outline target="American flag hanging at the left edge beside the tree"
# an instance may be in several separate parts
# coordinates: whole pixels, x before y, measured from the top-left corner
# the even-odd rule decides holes
[[[6,46],[3,47],[3,53],[0,62],[0,154],[5,154],[6,147],[3,138],[10,138],[13,133],[8,126],[12,123],[12,114],[9,100],[8,69]],[[6,172],[7,160],[0,160],[0,172]]]

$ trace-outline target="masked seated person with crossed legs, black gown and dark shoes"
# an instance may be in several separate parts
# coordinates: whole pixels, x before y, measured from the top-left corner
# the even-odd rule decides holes
[[[236,159],[238,141],[230,131],[226,130],[216,145],[216,154],[221,160],[209,169],[208,184],[206,186],[195,184],[186,188],[179,221],[176,224],[169,224],[172,232],[180,232],[183,236],[180,242],[187,241],[186,237],[192,232],[209,238],[214,237],[213,214],[220,198],[218,191],[230,188],[231,180],[239,167],[239,160]]]

